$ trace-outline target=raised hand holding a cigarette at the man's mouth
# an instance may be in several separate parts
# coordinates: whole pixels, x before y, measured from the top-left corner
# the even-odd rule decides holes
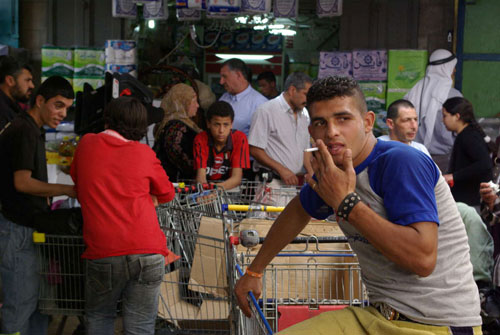
[[[356,189],[356,172],[352,165],[352,151],[344,152],[342,169],[337,167],[322,140],[316,142],[319,149],[314,154],[312,168],[318,181],[307,175],[306,181],[318,195],[337,210],[345,196]]]

